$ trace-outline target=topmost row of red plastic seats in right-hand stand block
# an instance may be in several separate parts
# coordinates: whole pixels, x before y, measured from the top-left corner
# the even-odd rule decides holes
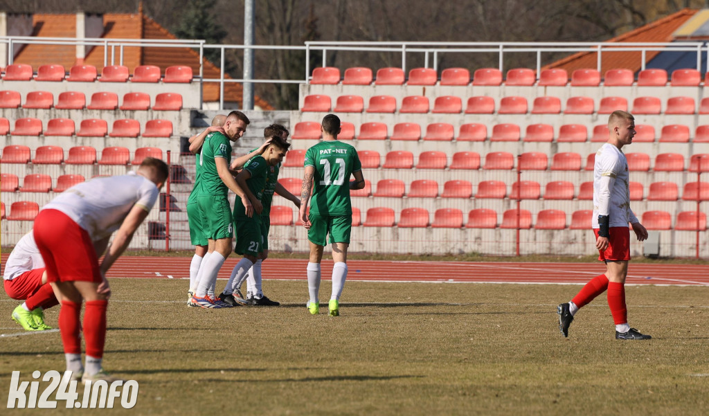
[[[637,75],[638,86],[665,86],[667,72],[664,69],[644,69]],[[338,84],[340,83],[340,69],[335,67],[320,67],[313,69],[311,84]],[[696,69],[676,69],[672,72],[671,86],[698,86],[702,80],[701,74]],[[372,84],[372,69],[354,67],[345,69],[344,85],[369,85]],[[408,79],[404,78],[401,68],[387,67],[376,71],[375,85],[435,85],[438,74],[432,68],[414,68],[408,72]],[[630,69],[610,69],[603,77],[604,86],[631,86],[635,82],[635,74]],[[498,86],[503,83],[503,74],[496,68],[476,69],[473,76],[473,85]],[[566,69],[545,69],[537,80],[535,71],[529,68],[514,68],[507,72],[505,85],[510,86],[565,86],[569,83],[569,74]],[[465,68],[443,69],[440,85],[468,85],[470,72]],[[601,73],[596,69],[576,69],[571,73],[571,86],[599,86]]]

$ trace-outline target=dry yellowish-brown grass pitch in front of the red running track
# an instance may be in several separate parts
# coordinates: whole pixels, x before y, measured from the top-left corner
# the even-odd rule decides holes
[[[580,286],[352,281],[340,317],[327,315],[328,281],[318,316],[305,281],[265,281],[278,308],[225,310],[187,308],[186,281],[111,286],[104,367],[140,383],[138,404],[115,414],[709,412],[709,287],[627,286],[630,324],[654,338],[624,342],[605,296],[562,337],[556,307]],[[0,333],[22,332],[17,304],[0,298]],[[57,332],[1,337],[0,401],[11,371],[64,368]],[[96,412],[58,404],[34,414]]]

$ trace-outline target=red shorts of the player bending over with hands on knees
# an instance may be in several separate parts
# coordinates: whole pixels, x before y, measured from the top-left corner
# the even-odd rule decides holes
[[[89,233],[59,210],[40,210],[33,227],[47,281],[101,283],[99,258]]]

